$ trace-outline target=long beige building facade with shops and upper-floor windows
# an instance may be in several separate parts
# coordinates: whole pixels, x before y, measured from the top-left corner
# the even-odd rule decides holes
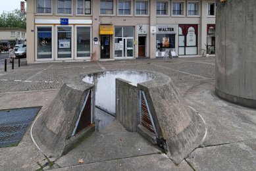
[[[28,63],[215,54],[215,8],[206,0],[27,0]]]

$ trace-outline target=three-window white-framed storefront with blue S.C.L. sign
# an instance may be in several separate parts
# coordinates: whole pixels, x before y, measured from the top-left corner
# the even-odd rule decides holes
[[[90,60],[91,20],[35,20],[36,61]]]

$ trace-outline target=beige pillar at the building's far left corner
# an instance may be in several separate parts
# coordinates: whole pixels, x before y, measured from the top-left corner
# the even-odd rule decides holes
[[[27,61],[28,64],[34,63],[35,61],[35,18],[34,18],[34,0],[27,0],[26,8],[26,43],[27,43]]]

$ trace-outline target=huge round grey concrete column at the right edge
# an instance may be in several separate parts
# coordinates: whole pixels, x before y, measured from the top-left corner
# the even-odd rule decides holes
[[[217,1],[216,93],[256,107],[256,1]]]

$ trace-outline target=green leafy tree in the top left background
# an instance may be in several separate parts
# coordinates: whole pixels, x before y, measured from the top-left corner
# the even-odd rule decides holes
[[[24,28],[26,29],[26,14],[15,9],[11,12],[3,12],[0,16],[0,28]]]

